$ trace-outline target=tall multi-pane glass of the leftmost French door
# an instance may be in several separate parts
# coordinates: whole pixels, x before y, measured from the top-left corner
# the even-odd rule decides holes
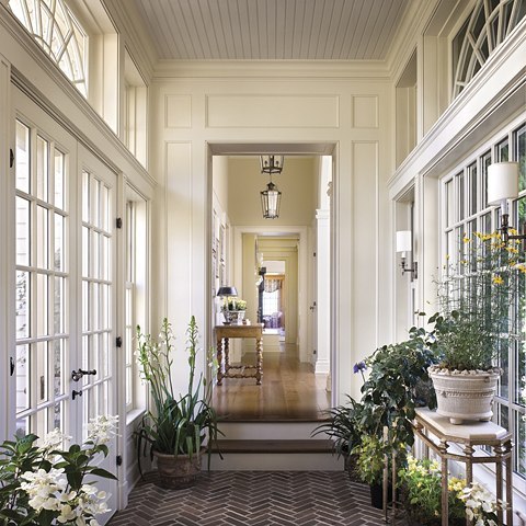
[[[65,426],[69,289],[66,156],[16,121],[16,433]]]

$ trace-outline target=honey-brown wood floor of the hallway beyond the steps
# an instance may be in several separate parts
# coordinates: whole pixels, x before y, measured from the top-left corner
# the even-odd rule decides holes
[[[323,420],[331,405],[325,380],[298,356],[297,345],[264,348],[262,385],[253,378],[225,378],[215,388],[214,408],[229,421]],[[243,364],[255,364],[255,353],[247,353]]]

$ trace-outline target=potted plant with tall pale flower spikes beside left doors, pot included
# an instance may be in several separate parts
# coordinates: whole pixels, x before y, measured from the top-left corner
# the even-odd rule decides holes
[[[191,318],[187,329],[187,390],[179,396],[172,382],[173,339],[172,325],[167,318],[162,321],[159,342],[153,341],[150,334],[142,334],[137,327],[140,373],[150,386],[153,408],[142,419],[136,436],[139,469],[140,453],[149,448],[150,457],[157,458],[161,484],[179,489],[195,483],[205,451],[209,467],[211,448],[219,431],[216,411],[210,405],[211,389],[203,374],[195,378],[198,352],[195,318]]]

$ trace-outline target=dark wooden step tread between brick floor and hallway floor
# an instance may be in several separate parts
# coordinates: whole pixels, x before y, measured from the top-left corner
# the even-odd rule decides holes
[[[333,443],[330,439],[219,439],[217,449],[221,454],[228,453],[332,453]],[[216,449],[216,450],[217,450]]]

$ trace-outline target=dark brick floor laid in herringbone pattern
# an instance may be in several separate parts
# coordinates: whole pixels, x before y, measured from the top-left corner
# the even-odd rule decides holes
[[[147,474],[111,526],[378,526],[369,489],[345,471],[210,471],[186,490]]]

